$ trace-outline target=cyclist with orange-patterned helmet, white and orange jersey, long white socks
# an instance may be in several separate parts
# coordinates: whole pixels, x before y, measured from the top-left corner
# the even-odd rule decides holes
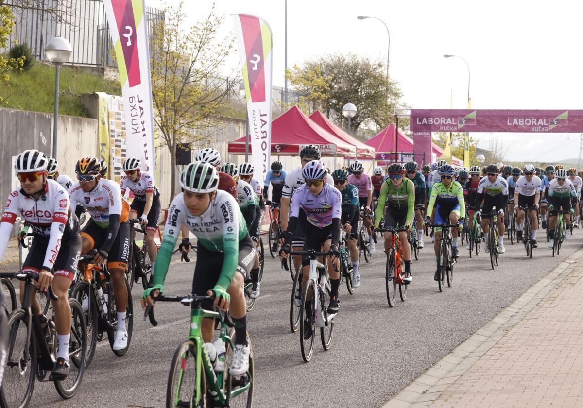
[[[95,248],[97,254],[93,257],[93,263],[101,265],[107,261],[117,309],[117,329],[112,349],[123,350],[128,346],[125,270],[129,259],[129,205],[121,196],[120,185],[113,180],[101,179],[100,171],[101,164],[95,157],[83,157],[77,162],[75,173],[79,182],[71,188],[71,209],[74,212],[78,203],[82,203],[91,216],[81,231],[81,254],[86,255]],[[85,275],[91,273],[89,265],[85,264],[82,268]]]

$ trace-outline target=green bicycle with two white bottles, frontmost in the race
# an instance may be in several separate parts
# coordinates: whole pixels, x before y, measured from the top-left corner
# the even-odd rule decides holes
[[[253,346],[247,333],[247,342],[251,349],[249,354],[249,370],[240,376],[231,375],[228,367],[233,360],[235,343],[235,331],[233,321],[228,314],[214,312],[201,308],[201,303],[206,300],[214,300],[210,296],[166,296],[160,294],[152,298],[156,302],[178,302],[184,306],[191,306],[190,332],[188,340],[178,346],[170,365],[168,384],[166,387],[166,407],[233,407],[232,399],[247,395],[247,403],[244,406],[253,406],[253,391],[255,386]],[[144,313],[149,318],[152,326],[158,322],[154,316],[154,309],[147,305]],[[218,371],[213,367],[209,354],[202,338],[201,325],[203,318],[220,318],[220,339],[225,345],[224,357],[217,355],[217,361],[223,361],[224,371]],[[227,334],[227,326],[230,333]],[[227,374],[225,375],[225,371]],[[239,401],[238,399],[235,403]],[[241,399],[243,402],[244,399]],[[238,406],[238,404],[237,404]]]

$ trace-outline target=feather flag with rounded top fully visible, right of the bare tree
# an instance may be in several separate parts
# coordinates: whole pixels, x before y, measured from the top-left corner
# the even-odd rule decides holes
[[[263,185],[271,162],[272,33],[264,19],[235,14],[243,70],[254,177]]]

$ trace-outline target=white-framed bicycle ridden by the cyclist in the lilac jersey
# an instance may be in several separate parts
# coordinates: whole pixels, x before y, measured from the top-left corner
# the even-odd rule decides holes
[[[321,252],[310,249],[309,251],[290,251],[289,254],[310,256],[310,277],[304,287],[300,304],[300,323],[303,322],[300,324],[301,357],[309,363],[314,355],[316,328],[320,329],[322,348],[329,350],[332,344],[334,318],[337,313],[329,314],[325,306],[330,298],[328,262],[324,258],[324,265],[322,265],[316,260],[317,256],[331,255],[332,251]],[[304,344],[305,340],[307,340],[306,344]]]

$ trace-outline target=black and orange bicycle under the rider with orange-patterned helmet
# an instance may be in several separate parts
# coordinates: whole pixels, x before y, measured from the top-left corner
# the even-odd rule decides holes
[[[95,249],[89,255],[80,256],[79,262],[92,262]],[[129,343],[132,340],[134,328],[134,307],[132,305],[132,291],[125,280],[128,291],[128,306],[125,312],[125,325],[128,333],[128,345],[123,350],[113,350],[115,330],[117,330],[117,307],[115,305],[115,292],[111,276],[107,266],[90,265],[90,282],[82,280],[75,285],[71,298],[76,299],[83,306],[85,321],[87,322],[87,361],[89,367],[95,354],[97,343],[104,339],[104,333],[110,343],[111,351],[115,356],[121,357],[127,353]]]

